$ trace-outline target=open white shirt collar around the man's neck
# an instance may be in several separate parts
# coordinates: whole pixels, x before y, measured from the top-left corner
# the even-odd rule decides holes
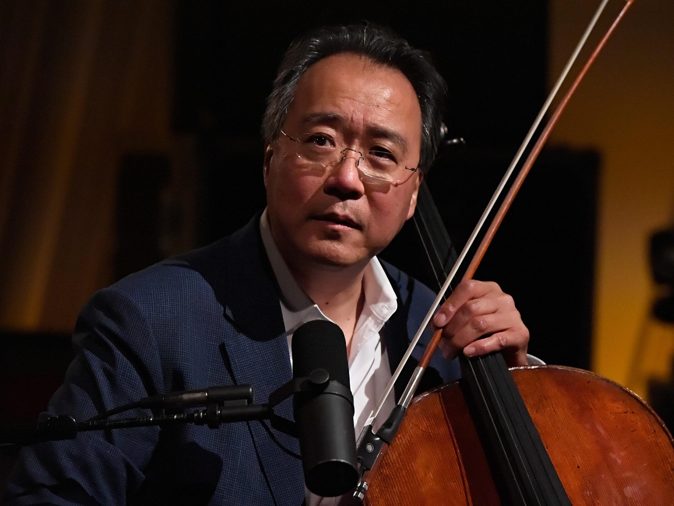
[[[290,269],[281,256],[274,242],[274,237],[272,237],[266,209],[260,217],[259,230],[262,235],[262,244],[264,244],[264,249],[281,290],[281,302],[285,306],[286,315],[290,316],[292,321],[292,325],[288,325],[289,321],[286,322],[286,332],[295,331],[299,325],[309,320],[329,320],[330,318],[325,316],[320,308],[314,304],[313,300],[307,296],[290,273]],[[365,267],[363,289],[365,290],[365,304],[374,316],[382,322],[386,322],[398,308],[398,301],[384,267],[381,266],[376,256]]]

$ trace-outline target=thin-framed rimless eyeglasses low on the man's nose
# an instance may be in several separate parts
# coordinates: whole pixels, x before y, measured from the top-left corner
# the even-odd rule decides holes
[[[363,154],[324,134],[303,134],[297,138],[289,136],[283,130],[280,132],[296,143],[297,158],[321,173],[342,163],[347,157],[353,157],[363,184],[398,186],[418,170],[416,167],[410,168],[398,163],[394,154],[383,147],[372,148]]]

